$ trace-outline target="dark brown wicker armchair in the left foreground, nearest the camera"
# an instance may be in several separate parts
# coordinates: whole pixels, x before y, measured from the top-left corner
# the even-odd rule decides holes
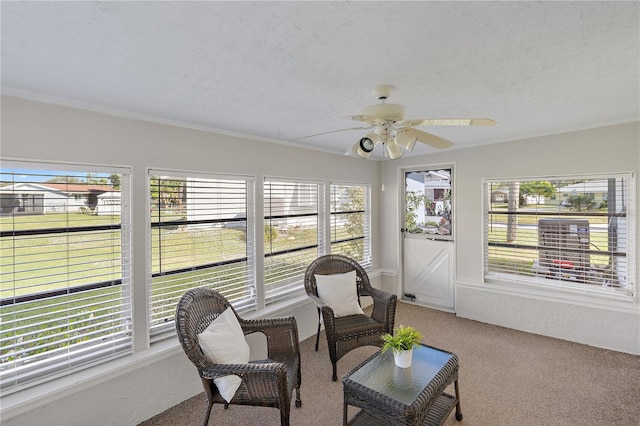
[[[229,301],[215,290],[195,288],[187,291],[176,308],[176,330],[184,352],[196,366],[204,386],[208,406],[204,425],[209,423],[213,404],[254,405],[280,410],[281,425],[289,425],[291,398],[296,391],[296,407],[300,407],[300,350],[298,327],[294,317],[243,320],[233,309],[245,335],[255,332],[267,337],[267,360],[248,364],[212,364],[198,345],[198,334],[222,314],[233,309]],[[227,403],[213,379],[235,374],[242,384]]]

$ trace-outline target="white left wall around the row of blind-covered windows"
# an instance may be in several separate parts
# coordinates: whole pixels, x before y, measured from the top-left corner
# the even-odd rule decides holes
[[[256,182],[262,182],[264,176],[276,176],[363,182],[378,187],[378,164],[374,161],[8,96],[2,97],[1,114],[3,159],[133,168],[136,336],[133,356],[3,396],[0,416],[4,426],[135,425],[202,391],[197,372],[177,340],[149,345],[147,339],[147,168],[248,174],[256,176]],[[377,205],[378,193],[372,191],[374,211]],[[375,268],[377,215],[372,220]],[[374,275],[376,285],[379,278]],[[301,339],[315,333],[317,314],[306,297],[267,314],[295,315]]]

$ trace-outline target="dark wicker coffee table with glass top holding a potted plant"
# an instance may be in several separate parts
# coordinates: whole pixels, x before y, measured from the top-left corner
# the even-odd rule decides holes
[[[444,393],[454,383],[455,396]],[[420,345],[411,367],[396,367],[391,351],[378,351],[342,379],[344,425],[441,425],[456,408],[462,420],[458,390],[458,357]],[[348,406],[360,412],[347,423]]]

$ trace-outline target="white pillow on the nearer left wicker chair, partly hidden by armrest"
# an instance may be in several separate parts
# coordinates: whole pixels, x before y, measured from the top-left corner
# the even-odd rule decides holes
[[[231,309],[216,318],[202,333],[198,344],[205,357],[214,364],[246,364],[249,362],[249,345],[242,327]],[[242,383],[236,375],[214,379],[220,395],[229,402]]]

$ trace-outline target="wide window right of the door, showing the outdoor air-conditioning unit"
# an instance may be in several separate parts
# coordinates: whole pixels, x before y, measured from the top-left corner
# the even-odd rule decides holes
[[[486,180],[485,279],[635,297],[635,175]]]

